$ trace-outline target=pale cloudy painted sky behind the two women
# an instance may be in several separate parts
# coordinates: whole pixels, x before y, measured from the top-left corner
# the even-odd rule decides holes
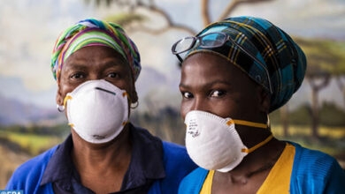
[[[210,2],[211,17],[218,19],[227,1]],[[196,31],[203,26],[197,0],[158,0],[157,6],[168,11],[177,23],[192,26]],[[121,12],[117,7],[95,8],[83,0],[1,0],[0,96],[54,108],[57,86],[50,72],[50,54],[58,34],[80,19],[102,19],[117,12]],[[243,4],[231,14],[240,15],[271,20],[288,34],[345,41],[343,0],[273,0]],[[164,26],[164,20],[151,15],[149,25]],[[178,106],[180,75],[170,48],[174,41],[189,34],[171,30],[157,36],[129,35],[142,55],[143,71],[137,82],[140,98],[149,93],[157,103]],[[308,101],[309,90],[304,85],[293,101]],[[341,92],[334,83],[325,91],[321,96],[323,100],[343,106]],[[145,106],[144,103],[141,106]]]

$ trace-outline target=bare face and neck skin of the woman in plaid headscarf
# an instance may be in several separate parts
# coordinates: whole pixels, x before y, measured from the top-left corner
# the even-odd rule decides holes
[[[180,113],[183,119],[191,110],[210,112],[256,123],[266,123],[270,95],[242,70],[221,56],[196,53],[182,63]],[[262,142],[271,132],[236,125],[247,147]],[[227,173],[215,172],[212,193],[255,193],[278,160],[285,143],[273,138],[249,153],[240,165]]]

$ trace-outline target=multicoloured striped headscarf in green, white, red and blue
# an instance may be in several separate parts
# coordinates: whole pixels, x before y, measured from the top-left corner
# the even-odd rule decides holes
[[[85,19],[65,29],[55,43],[51,56],[51,71],[58,81],[65,60],[80,48],[101,45],[113,48],[129,64],[136,80],[142,69],[134,42],[121,26],[97,19]]]

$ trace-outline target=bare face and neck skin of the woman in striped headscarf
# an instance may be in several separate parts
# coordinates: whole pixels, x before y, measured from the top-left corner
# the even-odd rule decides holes
[[[129,102],[138,100],[132,72],[123,57],[112,48],[92,46],[80,48],[66,59],[58,85],[57,103],[63,105],[66,93],[85,81],[96,79],[105,79],[126,90]],[[71,131],[71,156],[81,184],[96,193],[119,191],[132,154],[127,125],[117,138],[104,144],[88,143],[73,128]]]

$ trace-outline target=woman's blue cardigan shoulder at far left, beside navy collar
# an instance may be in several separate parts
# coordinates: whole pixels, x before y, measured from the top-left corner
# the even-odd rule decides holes
[[[44,169],[51,155],[55,153],[57,147],[58,146],[54,146],[50,148],[50,150],[20,165],[12,174],[10,181],[6,185],[6,189],[28,191],[32,188],[35,190],[35,187],[40,183],[42,174],[44,173]]]

